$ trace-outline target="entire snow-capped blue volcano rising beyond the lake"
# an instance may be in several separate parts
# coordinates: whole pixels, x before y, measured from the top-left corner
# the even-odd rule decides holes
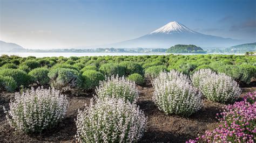
[[[169,48],[177,44],[193,44],[200,47],[230,47],[242,44],[241,40],[202,34],[180,24],[170,22],[142,37],[104,45],[113,48]]]

